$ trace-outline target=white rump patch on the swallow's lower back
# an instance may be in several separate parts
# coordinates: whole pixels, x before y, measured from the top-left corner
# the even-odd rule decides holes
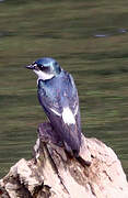
[[[68,107],[63,108],[62,120],[67,124],[74,124],[75,123],[74,116],[73,116],[72,111]]]

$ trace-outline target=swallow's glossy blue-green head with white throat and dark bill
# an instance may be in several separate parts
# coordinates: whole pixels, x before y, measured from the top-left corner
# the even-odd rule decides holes
[[[26,68],[32,69],[38,76],[38,79],[43,80],[51,79],[61,72],[59,64],[50,57],[39,58]]]

